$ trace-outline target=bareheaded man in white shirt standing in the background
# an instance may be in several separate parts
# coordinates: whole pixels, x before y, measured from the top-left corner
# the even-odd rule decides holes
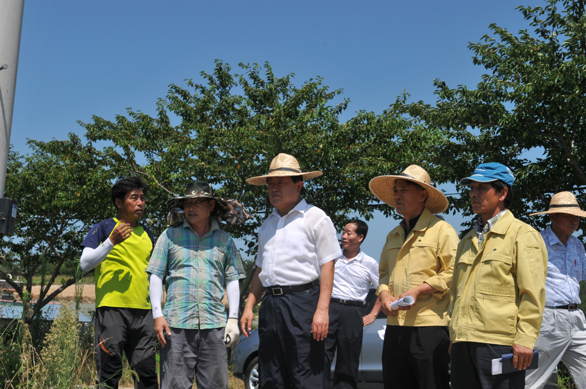
[[[366,303],[370,285],[379,287],[379,262],[360,250],[367,233],[367,224],[359,219],[350,220],[342,230],[344,250],[335,265],[329,308],[330,323],[326,337],[326,371],[330,371],[333,356],[336,348],[338,349],[333,376],[334,389],[358,387],[363,327],[374,322],[380,311],[380,301],[376,299],[372,311],[362,316],[362,306]],[[324,377],[323,387],[327,389],[330,377],[328,374]]]

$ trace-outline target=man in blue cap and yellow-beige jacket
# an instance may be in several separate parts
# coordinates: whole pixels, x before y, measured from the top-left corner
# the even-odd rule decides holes
[[[452,388],[524,388],[546,298],[547,249],[533,227],[507,210],[513,172],[482,163],[460,181],[481,217],[458,244],[452,279]],[[514,373],[492,375],[513,353]]]

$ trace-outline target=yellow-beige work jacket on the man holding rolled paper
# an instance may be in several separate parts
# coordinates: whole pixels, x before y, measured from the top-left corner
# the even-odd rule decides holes
[[[395,298],[424,282],[437,293],[420,295],[410,310],[389,315],[391,326],[447,326],[449,323],[449,286],[458,247],[458,234],[446,221],[427,208],[405,237],[403,226],[387,236],[379,262],[379,288]]]

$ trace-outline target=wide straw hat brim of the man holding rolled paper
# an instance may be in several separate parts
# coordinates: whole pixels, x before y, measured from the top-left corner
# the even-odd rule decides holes
[[[368,187],[370,192],[381,202],[395,207],[394,186],[396,180],[407,180],[423,186],[427,189],[425,208],[431,213],[442,213],[448,209],[448,198],[439,189],[426,184],[423,181],[410,179],[405,176],[378,176],[370,180]]]

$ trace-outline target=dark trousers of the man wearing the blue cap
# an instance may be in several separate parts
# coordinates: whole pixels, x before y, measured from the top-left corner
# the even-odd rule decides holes
[[[492,360],[512,353],[502,344],[458,342],[452,344],[452,388],[523,389],[525,370],[492,375]]]

